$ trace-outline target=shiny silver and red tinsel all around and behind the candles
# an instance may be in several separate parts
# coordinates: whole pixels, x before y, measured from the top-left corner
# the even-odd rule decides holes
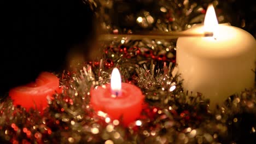
[[[127,4],[129,1],[117,2],[123,6],[114,1],[85,1],[100,11],[99,17],[103,14],[103,28],[121,33],[136,28],[184,30],[202,20],[206,7],[201,1],[136,1],[144,10],[134,14],[136,9]],[[106,9],[112,14],[118,11],[126,15],[117,21],[120,27],[110,23],[115,16],[110,17]],[[120,25],[120,21],[126,22]],[[200,93],[191,97],[194,94],[183,91],[175,45],[176,40],[102,41],[104,52],[100,61],[77,63],[72,65],[74,70],[56,74],[63,90],[48,99],[49,106],[43,115],[38,110],[14,106],[9,97],[3,98],[0,142],[255,143],[256,89],[227,95],[229,98],[223,104],[208,109],[211,100]],[[114,67],[120,70],[123,82],[141,89],[146,101],[141,116],[127,127],[121,124],[122,119],[110,119],[107,113],[94,111],[90,106],[91,87],[109,83]]]

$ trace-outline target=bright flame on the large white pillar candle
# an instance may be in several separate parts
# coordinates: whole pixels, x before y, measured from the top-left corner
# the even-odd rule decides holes
[[[216,37],[218,32],[218,20],[215,14],[215,10],[212,4],[210,4],[207,8],[205,21],[203,23],[203,28],[205,32],[213,32],[213,37]]]

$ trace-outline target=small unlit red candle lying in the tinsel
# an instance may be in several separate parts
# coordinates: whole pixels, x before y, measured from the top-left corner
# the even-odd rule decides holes
[[[10,89],[9,96],[14,105],[21,105],[28,111],[30,108],[42,112],[47,106],[46,97],[60,93],[59,79],[54,74],[43,72],[35,82]]]

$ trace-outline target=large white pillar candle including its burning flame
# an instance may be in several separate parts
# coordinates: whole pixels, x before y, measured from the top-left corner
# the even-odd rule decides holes
[[[240,28],[218,25],[212,5],[204,26],[192,32],[213,32],[213,37],[181,37],[177,41],[177,63],[185,91],[202,93],[210,107],[230,95],[254,86],[256,42]]]

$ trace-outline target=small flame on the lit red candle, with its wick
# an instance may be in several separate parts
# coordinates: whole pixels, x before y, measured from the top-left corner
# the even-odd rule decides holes
[[[121,75],[117,68],[114,68],[111,74],[111,92],[114,97],[121,95]]]

